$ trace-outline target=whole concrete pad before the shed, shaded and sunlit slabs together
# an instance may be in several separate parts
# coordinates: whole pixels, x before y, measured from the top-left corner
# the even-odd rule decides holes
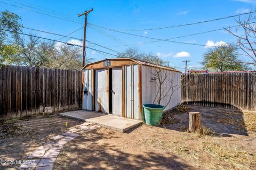
[[[119,117],[111,114],[106,115],[98,112],[90,112],[84,110],[60,113],[59,115],[78,118],[79,120],[98,124],[100,126],[120,132],[126,132],[143,123],[140,120],[131,118]]]

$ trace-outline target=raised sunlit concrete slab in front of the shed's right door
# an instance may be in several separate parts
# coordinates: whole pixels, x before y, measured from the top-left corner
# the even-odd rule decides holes
[[[139,121],[139,120],[124,118],[124,117],[119,117],[114,115],[104,115],[100,117],[89,118],[89,119],[86,119],[86,122],[98,124],[100,126],[114,129],[121,132],[125,132],[127,130],[130,130],[142,124],[142,121]]]

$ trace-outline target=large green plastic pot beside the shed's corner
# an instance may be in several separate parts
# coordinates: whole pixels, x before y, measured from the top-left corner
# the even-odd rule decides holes
[[[164,106],[147,104],[143,105],[145,121],[147,125],[157,126],[162,120],[162,115],[164,111]]]

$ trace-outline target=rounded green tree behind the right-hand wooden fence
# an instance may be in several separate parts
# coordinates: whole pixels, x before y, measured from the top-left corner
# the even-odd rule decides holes
[[[204,54],[201,64],[212,71],[243,71],[247,65],[238,59],[237,49],[230,44],[210,48]]]

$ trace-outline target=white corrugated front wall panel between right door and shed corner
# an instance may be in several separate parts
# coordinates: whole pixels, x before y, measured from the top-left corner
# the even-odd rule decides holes
[[[125,117],[141,119],[139,109],[139,65],[125,66]]]

